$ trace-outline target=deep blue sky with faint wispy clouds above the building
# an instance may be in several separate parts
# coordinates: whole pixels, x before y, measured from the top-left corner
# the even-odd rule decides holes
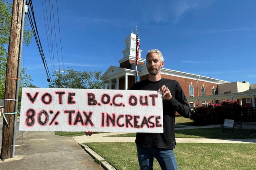
[[[42,8],[46,1],[32,3],[51,74],[59,67],[104,73],[110,65],[119,66],[124,40],[138,26],[142,58],[149,49],[157,48],[163,53],[164,68],[256,83],[254,0],[58,0],[60,37],[53,1],[57,40],[52,41],[54,62],[47,43],[46,9],[44,14]],[[26,28],[31,29],[30,25]],[[34,37],[29,46],[23,45],[22,66],[31,74],[32,84],[48,87]]]

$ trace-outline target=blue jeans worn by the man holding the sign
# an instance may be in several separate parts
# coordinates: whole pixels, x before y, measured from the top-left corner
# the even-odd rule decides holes
[[[156,158],[162,170],[178,170],[173,149],[145,148],[137,145],[140,170],[153,170]]]

